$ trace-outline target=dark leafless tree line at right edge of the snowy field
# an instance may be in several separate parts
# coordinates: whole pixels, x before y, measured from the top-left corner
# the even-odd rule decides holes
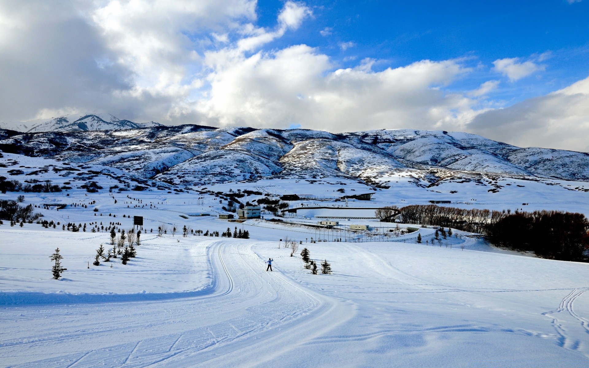
[[[451,227],[485,234],[495,246],[533,251],[538,257],[587,262],[589,221],[581,213],[563,211],[491,211],[412,204],[399,212],[399,222]]]

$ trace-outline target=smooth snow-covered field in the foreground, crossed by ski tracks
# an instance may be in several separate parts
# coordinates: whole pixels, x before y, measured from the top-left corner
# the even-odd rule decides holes
[[[1,366],[589,365],[589,264],[509,253],[459,231],[432,246],[431,228],[419,228],[423,244],[417,233],[307,243],[316,236],[309,227],[180,217],[214,214],[208,196],[201,204],[188,193],[69,193],[59,200],[96,204],[35,210],[60,223],[117,221],[127,229],[123,214],[143,214],[138,256],[126,266],[120,258],[93,266],[95,249],[110,240],[90,225],[79,233],[0,226]],[[24,204],[44,196],[28,193]],[[252,238],[157,237],[150,229],[161,223],[238,226]],[[307,247],[317,263],[329,261],[333,274],[310,274],[300,254],[290,257],[280,244],[285,236],[303,241],[299,253]],[[51,279],[56,247],[68,269],[60,280]]]

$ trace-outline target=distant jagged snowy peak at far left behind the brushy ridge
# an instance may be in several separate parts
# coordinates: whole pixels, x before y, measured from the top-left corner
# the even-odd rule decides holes
[[[24,122],[0,122],[0,128],[22,132],[68,132],[92,130],[123,130],[161,125],[151,121],[137,123],[121,120],[111,114],[70,114],[57,118],[29,120]]]

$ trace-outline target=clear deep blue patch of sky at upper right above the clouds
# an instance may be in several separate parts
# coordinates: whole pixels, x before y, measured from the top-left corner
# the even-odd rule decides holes
[[[283,1],[258,2],[258,24],[272,28]],[[589,76],[589,1],[306,1],[313,17],[296,32],[267,45],[307,44],[340,67],[363,58],[374,70],[422,59],[465,59],[477,72],[450,89],[474,89],[488,79],[506,81],[492,93],[501,104],[544,95]],[[321,32],[323,31],[323,34]],[[346,42],[353,46],[342,49]],[[502,58],[545,55],[541,74],[509,82],[492,71]]]

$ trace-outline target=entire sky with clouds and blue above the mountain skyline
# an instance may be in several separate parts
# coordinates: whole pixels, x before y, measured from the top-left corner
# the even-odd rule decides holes
[[[0,121],[465,131],[589,151],[589,0],[4,0]]]

